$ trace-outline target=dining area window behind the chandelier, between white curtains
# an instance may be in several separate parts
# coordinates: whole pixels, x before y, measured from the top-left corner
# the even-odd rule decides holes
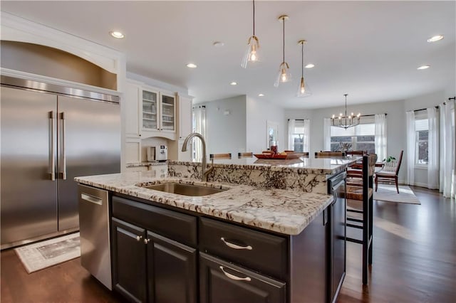
[[[352,150],[375,153],[375,123],[358,124],[356,127],[343,129],[331,126],[331,151],[340,151],[341,144],[351,144]]]

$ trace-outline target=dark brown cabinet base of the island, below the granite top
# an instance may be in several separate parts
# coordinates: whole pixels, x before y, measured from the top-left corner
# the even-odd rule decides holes
[[[332,302],[345,211],[337,198],[299,235],[282,235],[114,194],[113,288],[131,302]]]

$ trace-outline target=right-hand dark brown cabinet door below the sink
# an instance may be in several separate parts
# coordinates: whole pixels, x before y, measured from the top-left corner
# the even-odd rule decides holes
[[[197,250],[147,231],[149,302],[197,302]]]

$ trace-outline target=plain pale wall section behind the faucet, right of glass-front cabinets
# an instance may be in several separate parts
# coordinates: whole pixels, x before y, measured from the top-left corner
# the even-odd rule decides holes
[[[246,96],[198,103],[206,107],[207,154],[231,153],[246,149]]]

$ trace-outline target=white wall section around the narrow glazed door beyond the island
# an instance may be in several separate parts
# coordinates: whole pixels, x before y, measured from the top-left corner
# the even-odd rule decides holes
[[[286,149],[286,124],[284,109],[259,98],[247,96],[247,151],[254,154],[266,150],[266,121],[279,124],[279,151]]]

